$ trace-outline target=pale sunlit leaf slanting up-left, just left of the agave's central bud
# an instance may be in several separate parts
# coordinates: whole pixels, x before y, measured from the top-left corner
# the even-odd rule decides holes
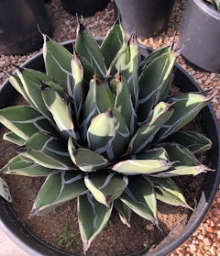
[[[63,98],[52,88],[42,91],[43,100],[52,114],[53,120],[60,134],[68,139],[76,139],[74,124],[71,120],[71,109]]]

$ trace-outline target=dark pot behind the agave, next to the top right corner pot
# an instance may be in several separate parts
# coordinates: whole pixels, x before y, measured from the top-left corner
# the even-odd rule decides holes
[[[115,17],[118,12],[126,33],[136,30],[137,37],[159,36],[169,23],[175,0],[115,0]]]

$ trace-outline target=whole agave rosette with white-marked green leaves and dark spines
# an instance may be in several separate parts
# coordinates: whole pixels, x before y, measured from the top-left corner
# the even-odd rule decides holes
[[[172,177],[209,171],[195,154],[212,142],[185,127],[209,98],[170,95],[176,52],[140,56],[136,36],[115,23],[101,46],[79,21],[73,53],[44,35],[46,73],[17,69],[9,80],[26,106],[0,110],[17,144],[2,173],[46,176],[30,216],[77,198],[84,252],[113,208],[158,224],[157,200],[191,208]]]

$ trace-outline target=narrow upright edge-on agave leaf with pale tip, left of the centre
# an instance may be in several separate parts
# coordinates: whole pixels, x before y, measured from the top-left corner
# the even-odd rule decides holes
[[[74,80],[73,104],[78,119],[82,107],[83,68],[82,63],[75,52],[73,52],[73,58],[71,60],[71,73]]]

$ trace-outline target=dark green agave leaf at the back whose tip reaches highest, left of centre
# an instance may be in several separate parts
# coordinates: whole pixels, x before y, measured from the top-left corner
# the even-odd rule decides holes
[[[105,79],[106,67],[104,64],[102,51],[96,40],[93,39],[90,31],[82,25],[82,22],[78,23],[77,39],[75,41],[75,51],[79,55],[80,59],[82,56],[83,59],[90,63],[91,67],[93,67],[94,72],[98,75],[100,79]]]

